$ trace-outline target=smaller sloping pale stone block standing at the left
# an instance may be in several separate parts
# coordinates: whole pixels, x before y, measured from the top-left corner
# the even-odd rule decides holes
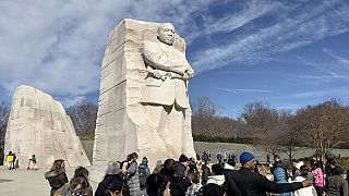
[[[15,89],[8,123],[4,151],[16,154],[19,166],[26,169],[31,155],[37,168],[50,168],[53,160],[65,166],[91,166],[62,105],[31,86]]]

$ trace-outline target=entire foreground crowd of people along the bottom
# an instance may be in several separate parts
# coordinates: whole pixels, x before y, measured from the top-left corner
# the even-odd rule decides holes
[[[51,196],[348,195],[348,182],[342,177],[345,170],[333,159],[326,161],[324,170],[321,161],[313,159],[311,167],[300,162],[290,171],[275,155],[269,172],[266,172],[268,167],[266,169],[248,151],[239,156],[239,170],[231,157],[229,161],[210,163],[181,155],[177,160],[158,161],[153,172],[146,157],[140,164],[137,160],[139,155],[132,152],[124,161],[108,162],[106,174],[95,192],[88,183],[86,168],[76,168],[69,182],[61,159],[53,162],[45,177],[51,186]],[[267,177],[266,173],[273,177]]]

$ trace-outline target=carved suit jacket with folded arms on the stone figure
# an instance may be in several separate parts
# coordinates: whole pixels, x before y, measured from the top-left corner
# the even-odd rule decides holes
[[[142,91],[142,102],[189,108],[186,79],[182,74],[190,68],[185,54],[160,41],[145,41],[142,54],[149,73],[145,78],[145,88]],[[161,75],[170,73],[172,77],[156,78],[152,71]]]

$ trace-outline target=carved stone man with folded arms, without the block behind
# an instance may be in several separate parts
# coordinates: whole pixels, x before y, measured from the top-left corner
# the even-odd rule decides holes
[[[185,53],[173,47],[173,25],[164,23],[158,26],[157,41],[144,41],[142,45],[148,72],[142,105],[146,107],[146,117],[152,122],[151,134],[164,142],[156,148],[164,149],[165,157],[177,158],[180,154],[193,154],[191,128],[185,123],[190,122],[190,115],[185,112],[190,111],[188,81],[194,71]],[[181,147],[176,149],[178,146]]]

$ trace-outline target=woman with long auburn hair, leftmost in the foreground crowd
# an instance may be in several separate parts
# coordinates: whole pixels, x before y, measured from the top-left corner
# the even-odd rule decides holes
[[[68,177],[65,174],[65,166],[63,159],[55,160],[50,171],[45,173],[45,179],[48,180],[51,192],[50,196],[53,196],[55,192],[68,183]]]

